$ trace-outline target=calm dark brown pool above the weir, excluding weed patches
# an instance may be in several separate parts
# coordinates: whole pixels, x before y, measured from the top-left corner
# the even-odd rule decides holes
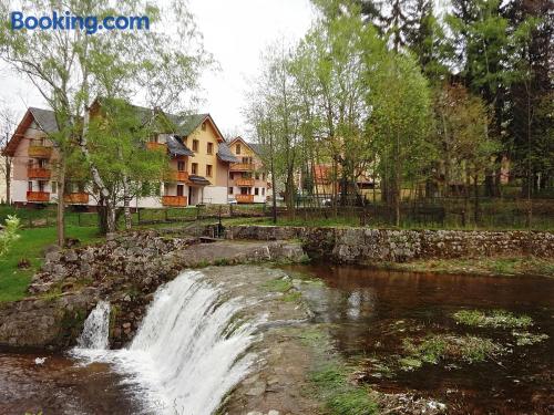
[[[384,392],[416,392],[449,404],[449,413],[554,413],[554,280],[441,276],[361,267],[294,266],[290,272],[325,281],[307,284],[316,320],[331,324],[337,349],[352,360],[375,361],[401,352],[402,339],[428,333],[490,336],[513,353],[497,362],[449,367],[424,365],[369,383]],[[550,339],[515,346],[510,333],[456,325],[460,309],[505,309],[533,318]],[[512,343],[510,343],[512,342]],[[368,372],[372,369],[368,363]]]

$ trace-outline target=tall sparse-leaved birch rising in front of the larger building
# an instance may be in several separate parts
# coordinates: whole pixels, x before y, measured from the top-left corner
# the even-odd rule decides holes
[[[52,10],[68,10],[73,15],[104,17],[114,9],[124,15],[147,15],[155,24],[162,15],[176,33],[157,30],[121,30],[88,34],[84,30],[12,31],[7,22],[0,32],[1,56],[16,71],[27,75],[54,111],[59,132],[50,138],[60,159],[57,168],[59,188],[58,242],[63,245],[63,189],[66,159],[75,149],[82,153],[90,177],[103,204],[107,231],[116,227],[114,195],[104,183],[89,146],[89,107],[95,96],[129,98],[145,92],[150,107],[176,110],[191,103],[199,71],[211,62],[204,53],[194,22],[177,1],[171,10],[160,10],[147,1],[63,0],[13,1],[1,6],[4,15],[11,10],[44,15]],[[136,56],[141,56],[140,60]],[[102,149],[100,149],[102,151]]]

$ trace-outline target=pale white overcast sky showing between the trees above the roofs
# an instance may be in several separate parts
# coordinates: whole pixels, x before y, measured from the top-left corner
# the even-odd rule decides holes
[[[245,134],[242,115],[249,80],[257,76],[260,55],[274,41],[300,39],[315,15],[309,0],[188,0],[204,37],[204,46],[219,71],[202,77],[197,111],[212,114],[219,129]],[[33,85],[0,62],[0,103],[18,116],[28,106],[47,107]],[[227,137],[226,137],[227,138]]]

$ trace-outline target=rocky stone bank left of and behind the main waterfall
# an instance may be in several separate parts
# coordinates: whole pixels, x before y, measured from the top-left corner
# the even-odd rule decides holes
[[[100,299],[112,305],[110,341],[135,334],[157,288],[183,269],[208,264],[300,261],[299,245],[217,241],[156,231],[112,235],[105,243],[51,250],[29,287],[30,298],[0,305],[0,346],[71,346]]]

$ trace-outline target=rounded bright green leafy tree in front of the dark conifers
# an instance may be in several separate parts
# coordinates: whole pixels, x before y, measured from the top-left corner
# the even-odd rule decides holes
[[[419,179],[435,156],[429,139],[431,98],[425,79],[409,55],[391,53],[368,73],[380,169],[390,183],[394,222],[400,226],[402,181]]]

